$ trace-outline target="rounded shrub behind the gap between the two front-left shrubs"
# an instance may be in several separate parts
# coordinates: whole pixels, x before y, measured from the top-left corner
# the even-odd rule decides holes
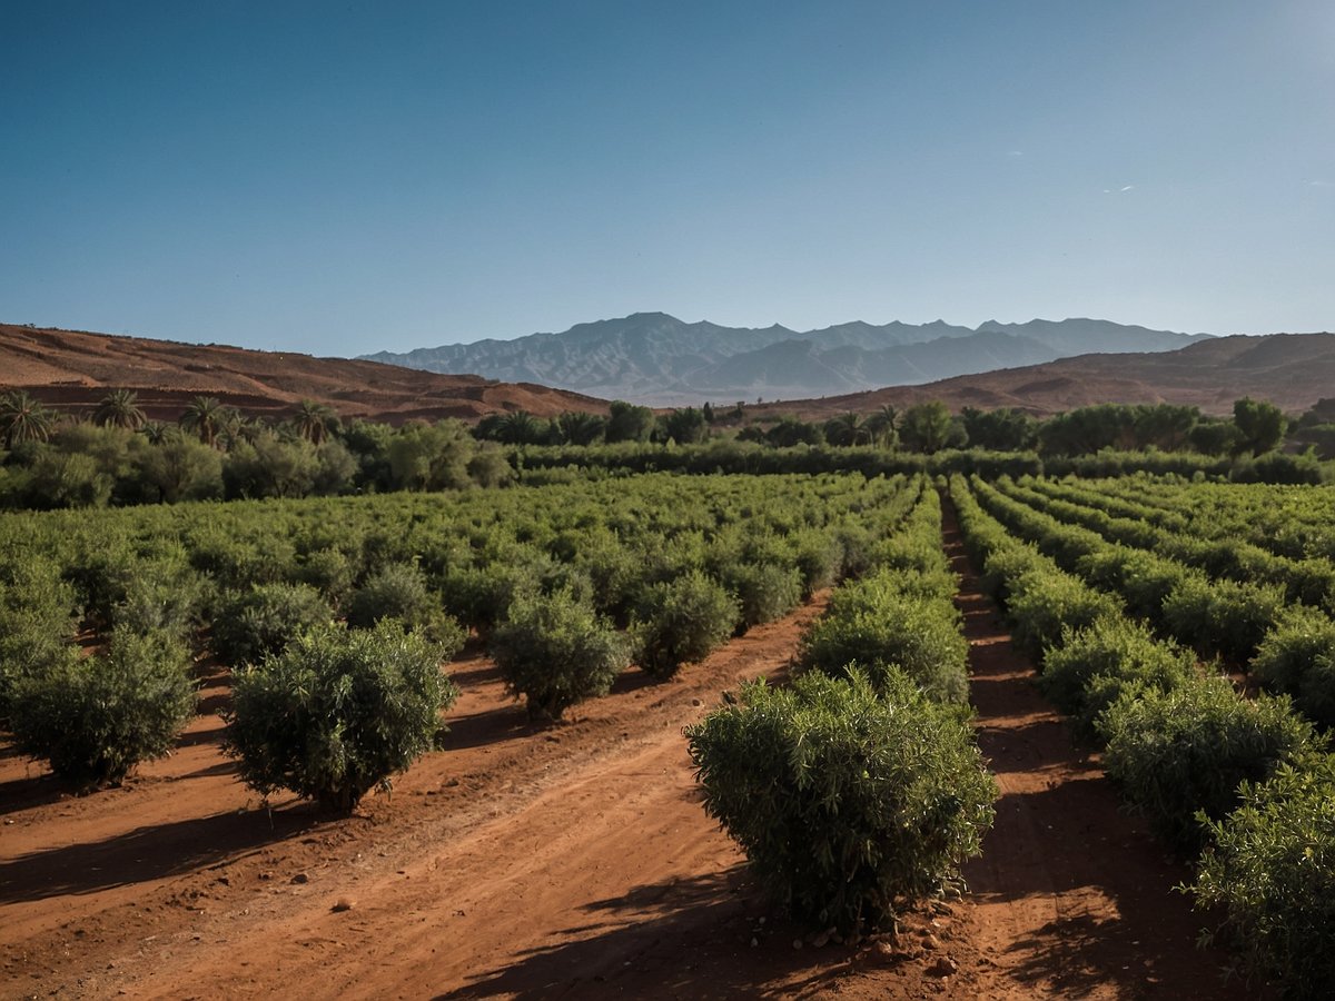
[[[234,667],[258,663],[332,621],[334,610],[314,587],[254,585],[223,599],[214,618],[214,654]]]

